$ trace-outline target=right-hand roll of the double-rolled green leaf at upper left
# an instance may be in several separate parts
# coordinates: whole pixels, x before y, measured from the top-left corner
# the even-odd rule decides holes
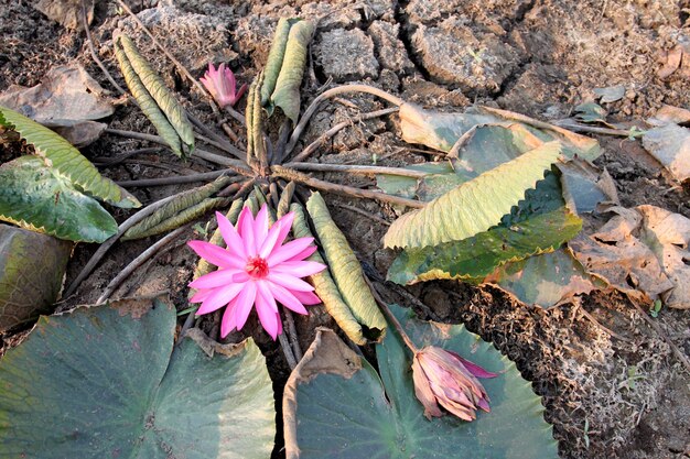
[[[122,46],[132,69],[137,73],[137,76],[153,100],[155,100],[155,103],[165,113],[168,121],[175,129],[182,142],[187,145],[190,151],[194,150],[194,132],[177,99],[165,87],[161,77],[151,68],[147,59],[139,54],[137,46],[127,35],[120,35],[118,43]]]

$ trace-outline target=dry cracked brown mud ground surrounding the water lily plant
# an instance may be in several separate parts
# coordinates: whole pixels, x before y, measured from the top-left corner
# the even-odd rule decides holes
[[[84,32],[66,31],[36,11],[33,3],[0,0],[0,90],[10,85],[36,85],[52,66],[73,62],[112,89],[94,64]],[[90,30],[100,58],[116,79],[122,84],[110,39],[116,28],[129,29],[186,108],[214,122],[203,98],[131,20],[120,14],[116,3],[97,3]],[[128,4],[194,76],[203,75],[208,61],[225,61],[242,83],[250,81],[266,62],[279,18],[320,19],[303,86],[305,101],[324,84],[363,81],[424,107],[457,111],[471,103],[485,103],[551,120],[564,118],[578,103],[593,99],[595,88],[623,85],[625,96],[606,106],[613,121],[645,119],[665,103],[690,107],[687,73],[666,78],[657,75],[667,52],[690,40],[687,0],[130,0]],[[348,100],[362,111],[384,108],[370,97]],[[352,113],[352,108],[338,102],[324,107],[304,142]],[[111,128],[153,133],[131,106],[118,107],[109,123]],[[600,138],[600,142],[605,153],[596,163],[607,167],[615,179],[623,205],[653,204],[690,217],[688,194],[667,181],[639,141]],[[139,141],[104,136],[84,153],[115,157],[141,146],[145,145]],[[381,165],[428,157],[399,140],[395,116],[342,131],[316,155],[322,162],[346,164],[371,164],[376,155],[382,159]],[[122,181],[208,170],[202,161],[182,164],[160,153],[136,156],[104,173]],[[325,177],[343,182],[335,175]],[[373,185],[368,178],[347,181],[353,186]],[[132,193],[148,204],[180,189],[150,187]],[[379,243],[386,226],[347,206],[388,221],[396,217],[393,209],[336,196],[330,196],[330,203],[360,260],[385,273],[391,261],[390,252]],[[119,221],[127,215],[115,210]],[[183,242],[193,237],[190,229],[179,243],[138,270],[115,296],[170,291],[177,308],[186,308],[186,283],[195,260]],[[118,243],[61,307],[94,302],[98,292],[150,244],[150,240]],[[95,247],[85,244],[76,249],[67,282],[94,251]],[[543,397],[546,418],[553,424],[561,457],[690,457],[690,378],[669,346],[670,341],[690,356],[688,312],[665,309],[656,319],[658,328],[651,328],[618,293],[595,293],[545,310],[520,305],[492,287],[434,282],[407,291],[417,302],[392,288],[388,299],[413,307],[421,318],[465,323],[517,362]],[[209,324],[204,325],[208,328]],[[316,325],[332,325],[319,307],[298,323],[304,348]],[[280,393],[288,375],[280,350],[256,323],[246,330],[252,329],[269,358]],[[3,337],[2,349],[21,336]],[[636,369],[634,379],[630,368]]]

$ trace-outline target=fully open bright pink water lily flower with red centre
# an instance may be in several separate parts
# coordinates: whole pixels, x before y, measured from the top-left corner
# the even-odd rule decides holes
[[[220,324],[223,338],[235,328],[241,330],[251,307],[256,306],[261,326],[276,339],[282,332],[277,302],[298,314],[308,314],[304,305],[321,303],[312,293],[314,287],[300,278],[326,267],[304,261],[316,250],[312,244],[314,238],[299,238],[283,244],[294,214],[287,214],[269,229],[266,205],[256,220],[245,207],[237,219],[237,229],[223,214],[216,212],[216,218],[227,249],[204,241],[187,242],[200,256],[218,266],[190,284],[198,289],[190,300],[202,303],[197,315],[227,305]]]

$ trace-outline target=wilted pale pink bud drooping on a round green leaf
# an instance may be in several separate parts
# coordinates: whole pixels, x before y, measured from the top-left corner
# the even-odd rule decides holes
[[[429,346],[414,354],[414,394],[424,405],[424,416],[443,416],[439,405],[465,420],[476,418],[476,409],[489,412],[488,395],[477,378],[495,378],[482,367],[455,352]]]

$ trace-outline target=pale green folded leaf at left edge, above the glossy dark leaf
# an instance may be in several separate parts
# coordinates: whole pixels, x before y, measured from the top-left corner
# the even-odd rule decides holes
[[[0,125],[17,131],[47,167],[66,177],[75,188],[117,207],[140,207],[141,203],[115,182],[100,175],[69,142],[44,125],[9,108],[0,107]]]

